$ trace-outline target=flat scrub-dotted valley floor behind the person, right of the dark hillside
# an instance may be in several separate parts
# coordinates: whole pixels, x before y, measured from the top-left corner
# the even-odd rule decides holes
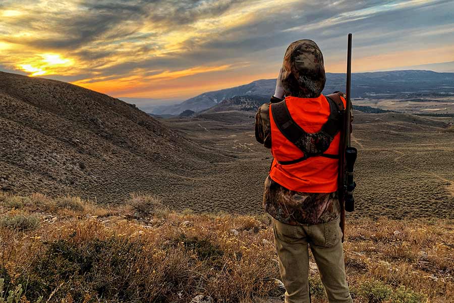
[[[157,194],[176,209],[262,212],[271,155],[255,141],[253,113],[205,118],[209,120],[162,121],[230,160],[200,167],[186,184],[172,184],[174,190]],[[454,132],[446,131],[445,120],[355,112],[352,145],[359,150],[358,187],[356,211],[348,216],[454,218]]]

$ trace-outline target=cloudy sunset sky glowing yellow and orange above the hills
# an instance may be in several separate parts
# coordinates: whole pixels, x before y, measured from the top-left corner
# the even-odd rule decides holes
[[[275,78],[298,39],[345,72],[349,32],[353,72],[454,72],[454,0],[2,0],[0,70],[172,103]]]

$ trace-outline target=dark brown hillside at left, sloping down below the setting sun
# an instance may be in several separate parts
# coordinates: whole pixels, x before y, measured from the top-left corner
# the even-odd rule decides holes
[[[0,189],[118,201],[223,159],[119,99],[0,73]]]

